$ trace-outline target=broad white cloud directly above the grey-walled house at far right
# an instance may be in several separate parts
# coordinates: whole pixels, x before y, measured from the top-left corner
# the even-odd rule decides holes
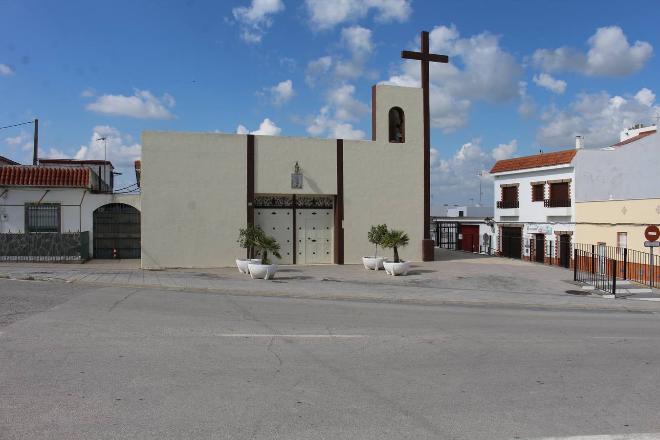
[[[655,94],[643,88],[634,96],[611,96],[603,91],[582,93],[563,110],[548,106],[537,140],[553,148],[572,148],[576,135],[585,137],[587,148],[602,148],[619,141],[619,133],[635,123],[647,123],[660,111]]]

